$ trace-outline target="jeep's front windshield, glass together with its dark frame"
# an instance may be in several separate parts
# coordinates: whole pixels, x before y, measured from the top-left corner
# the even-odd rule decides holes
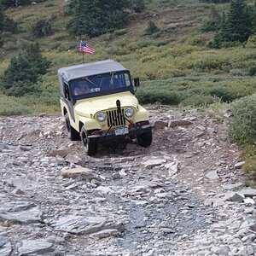
[[[70,82],[76,99],[102,96],[130,90],[134,93],[129,72],[97,74]]]

